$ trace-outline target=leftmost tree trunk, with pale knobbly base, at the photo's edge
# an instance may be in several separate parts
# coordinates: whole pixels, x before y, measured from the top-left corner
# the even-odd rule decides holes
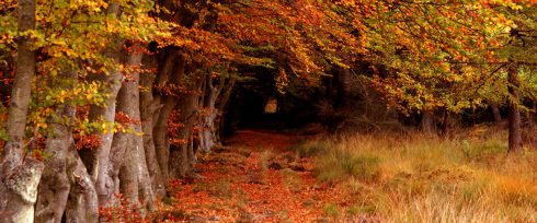
[[[19,32],[35,28],[35,0],[19,0]],[[32,222],[37,185],[44,165],[24,156],[24,129],[35,75],[35,52],[32,40],[18,39],[16,73],[11,92],[4,146],[0,169],[0,216],[4,222]]]

